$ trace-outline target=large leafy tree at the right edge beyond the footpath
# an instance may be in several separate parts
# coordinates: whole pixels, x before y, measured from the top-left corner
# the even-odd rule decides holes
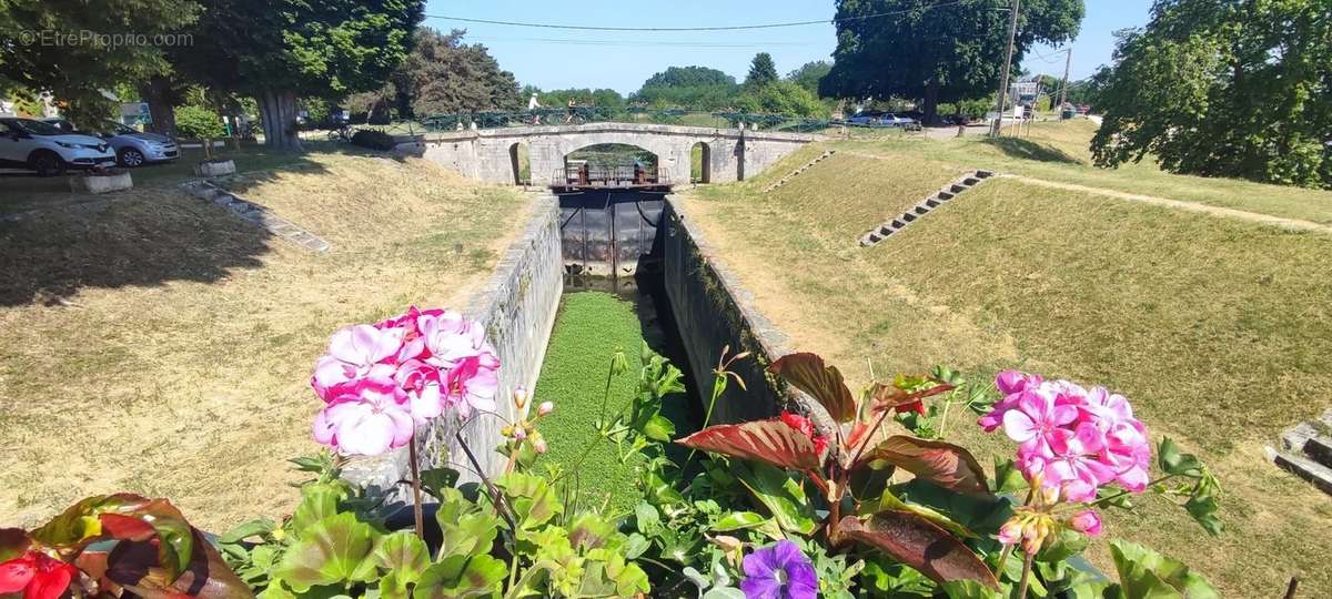
[[[1159,0],[1120,32],[1092,157],[1332,188],[1329,97],[1325,0]]]

